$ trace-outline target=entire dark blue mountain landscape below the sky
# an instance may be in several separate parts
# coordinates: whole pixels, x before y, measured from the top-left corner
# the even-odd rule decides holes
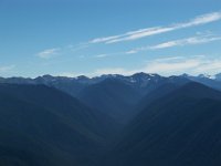
[[[0,165],[217,166],[221,76],[0,79]]]

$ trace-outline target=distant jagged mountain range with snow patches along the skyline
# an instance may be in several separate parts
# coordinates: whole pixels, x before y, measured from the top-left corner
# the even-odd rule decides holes
[[[159,74],[148,74],[148,73],[136,73],[130,76],[119,75],[119,74],[107,74],[95,77],[86,77],[84,75],[77,77],[66,77],[66,76],[52,76],[43,75],[35,79],[25,77],[0,77],[0,83],[12,83],[12,84],[44,84],[48,86],[56,87],[64,91],[72,96],[77,96],[78,93],[86,86],[92,84],[97,84],[107,79],[114,79],[124,82],[140,91],[140,93],[146,93],[146,91],[151,91],[156,85],[161,85],[165,82],[183,82],[185,80],[199,82],[201,84],[208,85],[210,87],[221,90],[221,74],[214,76],[200,74],[198,76],[192,76],[188,74],[182,74],[178,76],[161,76]],[[154,87],[152,87],[154,86]]]

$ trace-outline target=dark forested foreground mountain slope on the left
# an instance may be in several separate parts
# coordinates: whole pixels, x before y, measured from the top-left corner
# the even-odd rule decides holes
[[[112,118],[45,85],[0,85],[0,165],[93,165]]]

